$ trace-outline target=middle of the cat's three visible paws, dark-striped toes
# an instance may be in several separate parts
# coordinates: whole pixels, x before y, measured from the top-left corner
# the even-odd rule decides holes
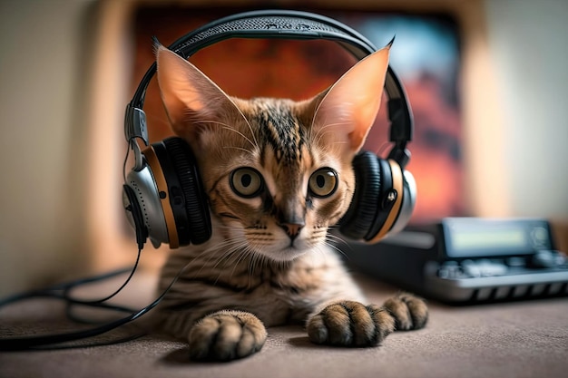
[[[395,320],[377,305],[354,301],[328,305],[308,321],[309,339],[316,344],[373,346],[395,329]]]

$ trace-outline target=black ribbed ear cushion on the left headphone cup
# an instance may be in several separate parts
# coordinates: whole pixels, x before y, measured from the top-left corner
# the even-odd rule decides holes
[[[207,196],[201,186],[197,161],[190,145],[181,138],[168,138],[162,142],[180,183],[181,193],[171,193],[171,196],[174,196],[174,199],[177,196],[183,201],[189,226],[185,232],[189,232],[191,243],[201,244],[211,237],[211,215]]]

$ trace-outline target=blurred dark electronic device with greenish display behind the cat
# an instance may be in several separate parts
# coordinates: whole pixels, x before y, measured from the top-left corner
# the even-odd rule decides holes
[[[545,219],[444,218],[346,255],[365,273],[447,303],[568,296],[568,258]]]

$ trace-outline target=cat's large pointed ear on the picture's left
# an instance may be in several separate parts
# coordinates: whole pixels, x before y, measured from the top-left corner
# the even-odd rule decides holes
[[[162,102],[175,134],[196,141],[203,122],[220,121],[228,111],[241,114],[230,97],[193,64],[162,44],[156,44],[155,51]]]

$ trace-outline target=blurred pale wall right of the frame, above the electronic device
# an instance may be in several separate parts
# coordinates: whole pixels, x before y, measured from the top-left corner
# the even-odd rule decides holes
[[[500,150],[487,153],[504,156],[500,171],[515,216],[566,219],[568,2],[485,4],[506,136]]]

